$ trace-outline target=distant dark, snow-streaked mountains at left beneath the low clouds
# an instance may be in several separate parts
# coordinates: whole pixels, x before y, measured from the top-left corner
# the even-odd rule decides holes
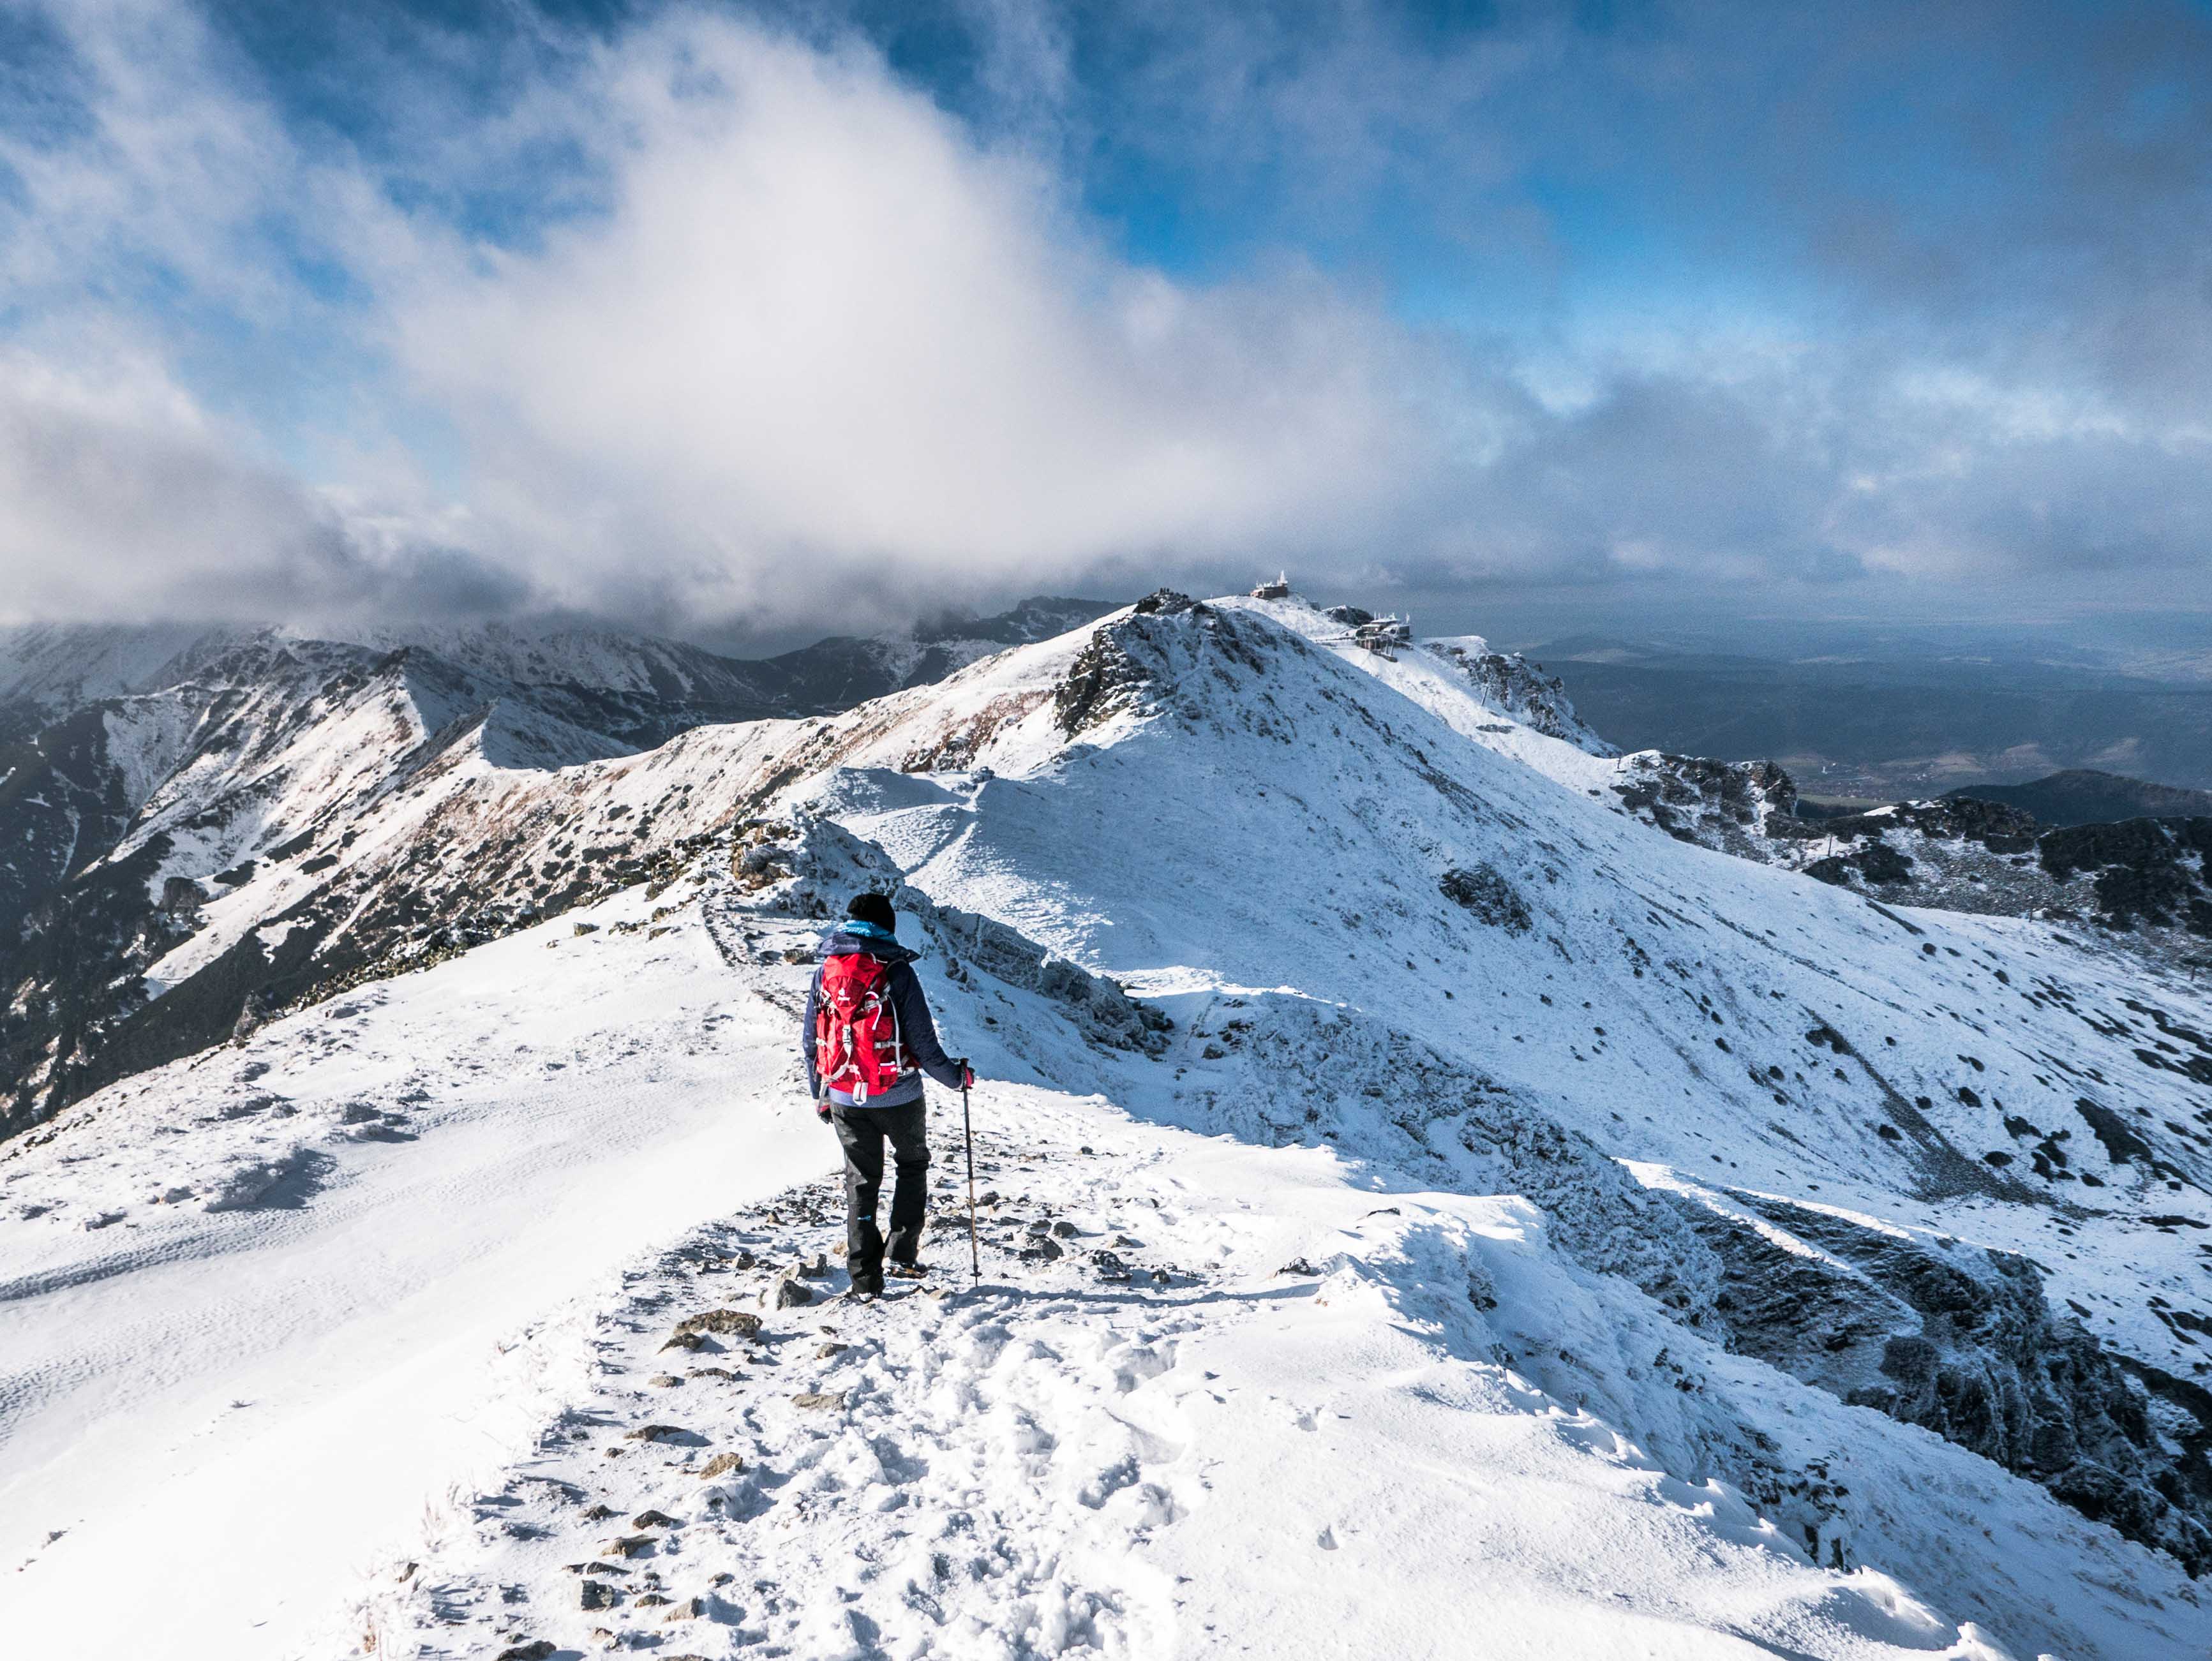
[[[761,661],[500,624],[0,635],[0,1139],[241,1020],[487,940],[666,856],[650,805],[582,843],[540,812],[542,838],[518,834],[480,880],[425,891],[434,849],[372,838],[356,854],[403,803],[843,710],[1104,610],[1040,597]]]

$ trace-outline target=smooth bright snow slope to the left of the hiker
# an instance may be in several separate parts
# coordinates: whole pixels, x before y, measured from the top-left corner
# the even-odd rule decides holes
[[[633,913],[274,1022],[9,1148],[0,1650],[296,1654],[376,1542],[526,1446],[551,1385],[500,1345],[821,1166],[810,1119],[752,1106],[790,1068],[781,1011],[730,1004],[697,911],[613,933]],[[148,1203],[274,1146],[314,1183]]]

